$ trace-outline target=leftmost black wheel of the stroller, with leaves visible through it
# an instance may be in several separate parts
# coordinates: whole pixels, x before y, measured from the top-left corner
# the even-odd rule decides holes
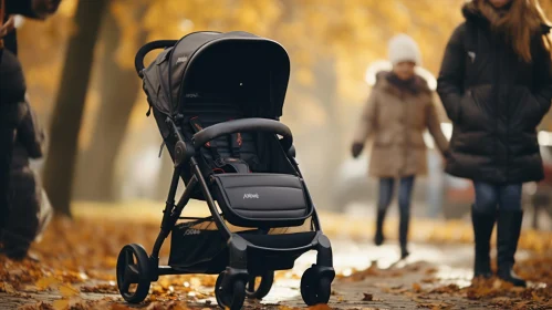
[[[126,245],[117,258],[117,287],[131,303],[146,299],[150,286],[149,258],[140,245]]]

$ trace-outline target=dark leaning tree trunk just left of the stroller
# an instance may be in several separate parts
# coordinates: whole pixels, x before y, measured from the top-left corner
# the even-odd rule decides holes
[[[71,216],[73,169],[94,46],[106,4],[107,0],[79,1],[74,17],[77,32],[69,41],[50,128],[44,187],[56,213],[67,216]]]

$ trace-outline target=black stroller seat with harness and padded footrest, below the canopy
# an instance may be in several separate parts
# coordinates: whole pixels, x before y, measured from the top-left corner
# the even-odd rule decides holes
[[[194,100],[188,101],[181,130],[191,140],[206,127],[238,118],[242,118],[241,110],[231,100],[195,93]],[[262,142],[256,140],[251,132],[232,133],[211,140],[199,149],[225,218],[242,227],[302,225],[312,211],[303,182],[296,175],[269,173],[259,156]]]

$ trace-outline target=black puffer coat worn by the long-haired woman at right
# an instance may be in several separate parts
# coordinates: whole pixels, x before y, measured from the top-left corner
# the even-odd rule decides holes
[[[535,33],[527,63],[471,4],[462,11],[466,22],[448,42],[437,87],[454,124],[446,172],[496,184],[540,180],[537,126],[552,100],[542,35],[550,28]]]

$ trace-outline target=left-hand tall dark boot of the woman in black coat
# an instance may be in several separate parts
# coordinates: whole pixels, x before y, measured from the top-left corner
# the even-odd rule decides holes
[[[476,244],[476,259],[473,266],[473,278],[492,277],[490,251],[490,239],[497,215],[494,213],[479,213],[471,206],[471,224],[473,225],[473,239]]]

